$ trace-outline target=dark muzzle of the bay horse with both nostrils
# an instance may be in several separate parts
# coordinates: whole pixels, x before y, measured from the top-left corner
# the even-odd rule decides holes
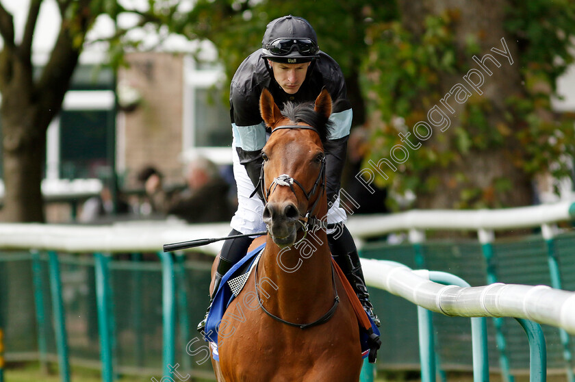
[[[268,202],[264,207],[264,222],[272,240],[280,248],[296,242],[299,218],[298,208],[290,201]]]

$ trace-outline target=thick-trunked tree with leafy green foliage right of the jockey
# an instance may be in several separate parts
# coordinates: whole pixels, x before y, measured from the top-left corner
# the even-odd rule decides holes
[[[575,118],[550,97],[573,62],[572,1],[398,7],[398,21],[368,30],[363,179],[415,192],[418,207],[476,208],[529,205],[535,176],[569,173]]]

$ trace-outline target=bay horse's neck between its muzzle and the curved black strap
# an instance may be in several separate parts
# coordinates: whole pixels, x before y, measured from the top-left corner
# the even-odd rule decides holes
[[[261,261],[262,276],[277,286],[264,301],[266,308],[309,313],[310,306],[316,303],[320,309],[333,303],[331,253],[324,231],[309,233],[301,242],[283,250],[268,237]]]

